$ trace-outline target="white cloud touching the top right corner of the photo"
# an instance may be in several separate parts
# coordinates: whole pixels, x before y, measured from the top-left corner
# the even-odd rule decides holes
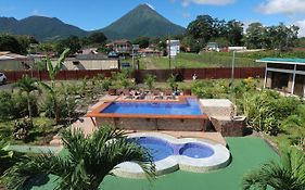
[[[257,7],[265,14],[295,14],[305,13],[305,0],[265,0]]]

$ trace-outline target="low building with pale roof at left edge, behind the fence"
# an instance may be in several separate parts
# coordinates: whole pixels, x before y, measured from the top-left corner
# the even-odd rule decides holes
[[[24,71],[30,69],[34,59],[9,51],[0,52],[0,71]]]

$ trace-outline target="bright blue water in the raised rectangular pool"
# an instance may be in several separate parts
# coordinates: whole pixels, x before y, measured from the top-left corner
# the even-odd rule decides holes
[[[185,103],[168,102],[113,102],[101,113],[155,114],[155,115],[202,115],[196,99]]]

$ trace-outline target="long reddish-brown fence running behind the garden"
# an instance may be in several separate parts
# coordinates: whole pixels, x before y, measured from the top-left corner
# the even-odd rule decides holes
[[[92,78],[98,74],[103,74],[105,77],[111,77],[114,73],[119,72],[118,69],[77,69],[77,71],[60,71],[55,79],[58,80],[73,80],[82,79],[85,77]],[[49,80],[49,75],[47,71],[11,71],[2,72],[5,74],[9,81],[13,83],[22,78],[23,75],[28,75],[40,80]],[[170,74],[177,75],[181,80],[192,79],[195,74],[198,79],[219,79],[219,78],[230,78],[231,68],[229,67],[206,67],[206,68],[177,68],[177,69],[138,69],[135,71],[131,76],[136,78],[137,81],[141,83],[145,75],[152,74],[156,76],[158,81],[166,81]],[[234,78],[263,78],[265,75],[264,67],[236,67]]]

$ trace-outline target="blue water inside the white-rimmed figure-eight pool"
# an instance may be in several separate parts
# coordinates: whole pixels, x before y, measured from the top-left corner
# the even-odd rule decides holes
[[[128,140],[148,149],[153,156],[153,161],[161,161],[169,155],[186,155],[193,159],[203,159],[214,154],[212,148],[193,142],[173,144],[154,137],[139,137]]]

